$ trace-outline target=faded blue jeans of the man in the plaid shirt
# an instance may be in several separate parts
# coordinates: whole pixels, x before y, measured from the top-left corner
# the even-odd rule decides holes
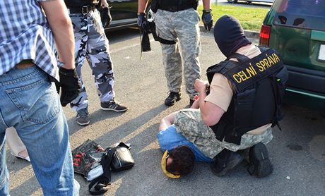
[[[44,195],[78,195],[68,125],[49,76],[37,66],[13,68],[0,75],[0,97],[0,195],[8,195],[4,136],[11,126],[28,149]]]

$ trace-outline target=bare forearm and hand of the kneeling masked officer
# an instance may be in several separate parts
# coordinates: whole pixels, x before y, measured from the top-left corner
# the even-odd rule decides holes
[[[195,90],[199,92],[200,96],[199,106],[202,120],[206,125],[211,126],[220,121],[225,111],[211,102],[204,101],[204,99],[206,99],[206,86],[207,82],[200,79],[195,80],[194,87]]]

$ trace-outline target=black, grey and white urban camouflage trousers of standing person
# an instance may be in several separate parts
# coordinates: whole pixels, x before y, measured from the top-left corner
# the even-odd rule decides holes
[[[114,75],[110,47],[102,27],[100,13],[97,10],[90,11],[86,15],[75,13],[70,14],[70,18],[76,42],[76,71],[82,85],[80,94],[70,103],[70,106],[78,111],[88,106],[87,93],[81,75],[85,58],[92,70],[100,102],[110,102],[114,99]]]

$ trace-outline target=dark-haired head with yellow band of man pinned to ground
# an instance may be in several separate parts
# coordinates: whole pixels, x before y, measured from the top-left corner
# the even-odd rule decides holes
[[[169,178],[179,178],[191,173],[194,168],[195,156],[189,147],[182,145],[175,147],[162,156],[162,171]]]

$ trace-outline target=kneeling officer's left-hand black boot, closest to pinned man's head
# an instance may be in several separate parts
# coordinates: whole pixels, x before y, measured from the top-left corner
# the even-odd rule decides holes
[[[223,149],[217,156],[213,158],[211,169],[216,176],[225,176],[228,171],[232,170],[242,162],[243,158],[237,152]]]

